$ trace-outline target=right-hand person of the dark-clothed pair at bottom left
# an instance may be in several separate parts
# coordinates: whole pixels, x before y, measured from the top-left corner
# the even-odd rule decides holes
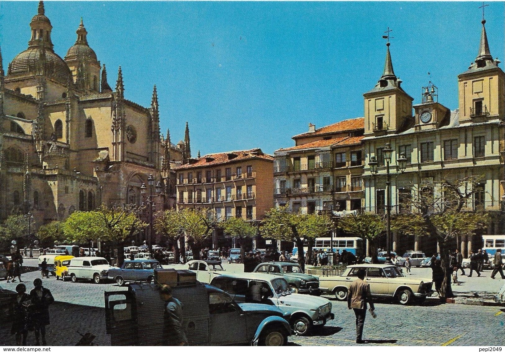
[[[55,302],[49,289],[42,287],[42,280],[33,280],[33,288],[30,291],[30,299],[33,304],[33,329],[35,331],[36,344],[39,345],[39,335],[42,336],[42,345],[46,345],[45,327],[49,325],[49,305]]]

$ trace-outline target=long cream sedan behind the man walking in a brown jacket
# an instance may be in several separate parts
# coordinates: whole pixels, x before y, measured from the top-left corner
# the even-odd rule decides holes
[[[358,278],[358,270],[365,269],[365,281],[370,283],[370,293],[375,298],[389,298],[402,305],[415,299],[424,300],[433,291],[431,278],[419,279],[404,276],[390,264],[349,265],[340,276],[319,276],[322,291],[331,292],[338,301],[346,301],[348,288]]]

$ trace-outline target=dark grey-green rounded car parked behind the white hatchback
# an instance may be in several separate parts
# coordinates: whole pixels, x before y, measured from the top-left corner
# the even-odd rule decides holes
[[[283,276],[295,294],[319,295],[319,278],[305,274],[298,264],[289,262],[266,262],[258,264],[253,272]]]

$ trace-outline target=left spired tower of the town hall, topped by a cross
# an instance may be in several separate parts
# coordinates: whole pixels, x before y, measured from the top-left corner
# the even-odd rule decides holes
[[[393,71],[391,43],[389,36],[391,30],[387,29],[386,61],[384,72],[374,89],[363,94],[365,98],[365,135],[384,135],[396,133],[412,119],[412,98],[401,88],[401,81]]]

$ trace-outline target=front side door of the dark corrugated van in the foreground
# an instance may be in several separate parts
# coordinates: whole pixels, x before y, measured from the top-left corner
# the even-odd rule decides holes
[[[247,341],[245,314],[225,292],[209,292],[211,345],[237,345]]]

